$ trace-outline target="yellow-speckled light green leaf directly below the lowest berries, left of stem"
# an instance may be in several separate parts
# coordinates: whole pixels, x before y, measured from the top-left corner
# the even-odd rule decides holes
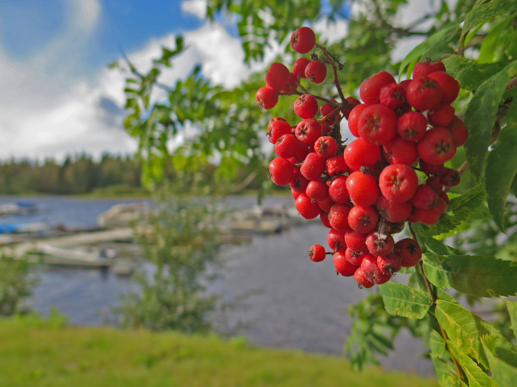
[[[424,318],[431,307],[431,299],[425,293],[397,282],[379,286],[386,311],[394,316]]]

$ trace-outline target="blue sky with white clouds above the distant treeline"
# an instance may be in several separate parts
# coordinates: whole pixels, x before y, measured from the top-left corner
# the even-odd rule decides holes
[[[0,0],[0,158],[134,152],[122,125],[125,75],[107,65],[126,53],[146,71],[176,34],[189,48],[164,83],[194,63],[228,87],[262,70],[242,65],[232,23],[206,23],[204,9],[205,0]],[[316,29],[339,36],[346,23]],[[273,47],[265,60],[281,51]]]

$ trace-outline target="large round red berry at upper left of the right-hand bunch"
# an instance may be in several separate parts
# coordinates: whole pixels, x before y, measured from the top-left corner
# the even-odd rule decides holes
[[[397,133],[397,116],[384,105],[368,106],[359,116],[357,130],[364,141],[382,145]]]

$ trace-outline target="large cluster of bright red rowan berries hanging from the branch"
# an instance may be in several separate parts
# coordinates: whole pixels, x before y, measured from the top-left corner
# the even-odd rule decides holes
[[[422,254],[414,239],[396,243],[392,234],[401,232],[406,221],[436,223],[449,203],[444,188],[460,181],[457,170],[444,166],[468,136],[451,106],[460,85],[442,62],[426,60],[417,63],[413,79],[399,84],[385,71],[364,80],[361,103],[344,98],[339,62],[316,43],[310,28],[294,31],[291,46],[301,54],[316,47],[324,58],[299,58],[292,72],[273,63],[266,86],[256,93],[265,109],[275,106],[279,95],[298,95],[293,108],[301,120],[291,125],[275,117],[267,126],[279,156],[269,164],[271,179],[291,186],[302,217],[319,216],[330,229],[332,251],[313,245],[311,260],[332,254],[337,272],[353,276],[360,287],[385,283],[401,267],[416,265]],[[323,82],[327,66],[341,102],[311,94],[300,84],[302,78]],[[346,146],[339,125],[343,118],[357,137]]]

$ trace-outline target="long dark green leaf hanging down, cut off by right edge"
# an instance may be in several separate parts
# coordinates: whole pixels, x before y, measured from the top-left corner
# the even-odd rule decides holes
[[[517,174],[517,102],[513,102],[506,116],[497,142],[486,159],[486,201],[495,223],[505,231],[505,203],[510,186]]]

